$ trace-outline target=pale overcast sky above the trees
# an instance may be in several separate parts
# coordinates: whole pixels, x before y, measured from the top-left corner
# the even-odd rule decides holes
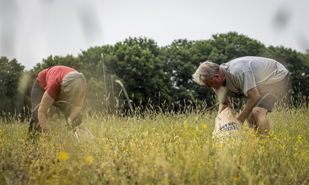
[[[210,39],[230,31],[265,46],[309,49],[308,0],[0,0],[0,56],[30,70],[50,55],[148,37]]]

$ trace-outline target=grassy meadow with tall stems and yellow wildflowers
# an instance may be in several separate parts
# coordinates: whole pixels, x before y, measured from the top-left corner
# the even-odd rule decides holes
[[[80,142],[50,117],[50,140],[37,144],[26,142],[28,122],[2,120],[0,184],[309,184],[307,106],[274,108],[269,137],[244,124],[238,137],[213,139],[215,117],[84,113],[95,139]]]

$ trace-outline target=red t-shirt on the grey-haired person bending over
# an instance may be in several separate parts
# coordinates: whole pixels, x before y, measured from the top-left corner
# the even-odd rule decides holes
[[[39,72],[37,84],[46,90],[48,95],[53,99],[66,100],[68,97],[62,93],[61,89],[62,79],[64,79],[68,72],[72,71],[77,72],[77,70],[66,66],[52,66]],[[82,95],[80,95],[80,98],[86,95],[86,87],[85,85],[85,90]]]

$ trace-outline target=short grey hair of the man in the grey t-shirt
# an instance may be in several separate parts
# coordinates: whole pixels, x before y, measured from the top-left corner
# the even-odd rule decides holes
[[[200,64],[196,72],[192,75],[193,81],[200,85],[205,85],[204,80],[214,80],[214,75],[220,73],[220,66],[211,61],[204,61]]]

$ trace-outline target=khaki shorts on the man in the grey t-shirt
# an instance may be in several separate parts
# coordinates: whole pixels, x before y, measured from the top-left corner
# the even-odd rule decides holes
[[[274,103],[279,100],[279,96],[288,85],[288,81],[289,75],[286,75],[284,79],[277,83],[266,84],[263,86],[259,91],[267,93],[260,93],[261,97],[253,107],[265,108],[271,113]]]

